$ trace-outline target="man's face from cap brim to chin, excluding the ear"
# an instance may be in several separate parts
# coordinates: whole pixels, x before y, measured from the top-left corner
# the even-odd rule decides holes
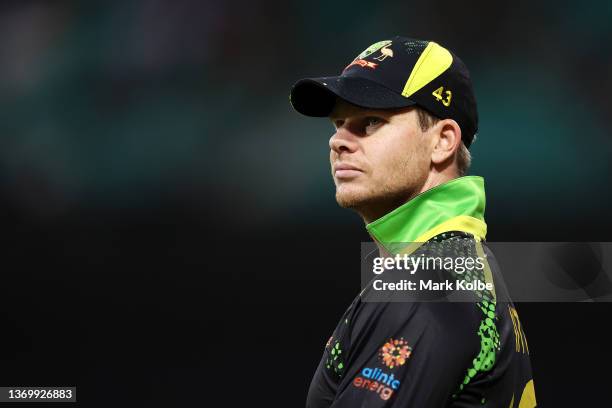
[[[338,99],[329,140],[336,200],[367,222],[412,198],[427,179],[431,138],[422,132],[417,112],[371,110]]]

